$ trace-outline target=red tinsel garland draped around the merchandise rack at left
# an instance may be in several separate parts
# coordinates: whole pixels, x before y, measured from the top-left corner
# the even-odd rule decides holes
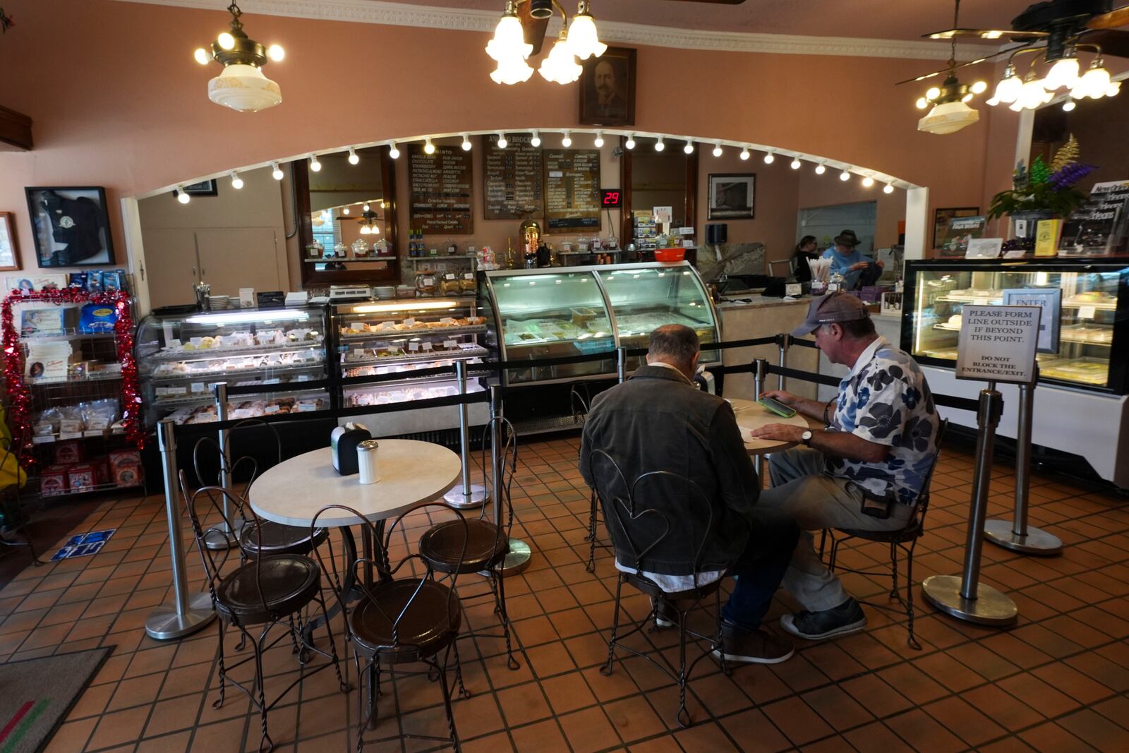
[[[28,410],[32,393],[24,382],[24,349],[19,344],[19,330],[12,323],[11,305],[16,301],[49,301],[61,304],[100,304],[113,306],[117,312],[114,323],[114,344],[117,347],[117,360],[122,365],[122,423],[125,436],[137,445],[145,447],[146,434],[142,423],[141,389],[138,386],[138,367],[133,360],[133,315],[130,309],[130,296],[121,290],[105,292],[87,292],[79,288],[62,290],[43,290],[40,292],[20,292],[12,290],[0,304],[0,324],[3,326],[3,375],[8,384],[8,397],[11,402],[9,415],[12,436],[19,444],[19,458],[25,467],[34,462],[32,449],[32,422]]]

